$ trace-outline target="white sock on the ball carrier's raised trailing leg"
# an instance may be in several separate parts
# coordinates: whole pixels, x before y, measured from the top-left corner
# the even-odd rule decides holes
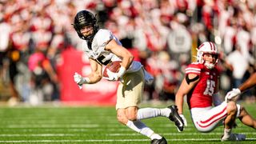
[[[137,119],[142,120],[146,118],[155,118],[155,117],[169,117],[170,109],[156,109],[156,108],[142,108],[138,110]]]

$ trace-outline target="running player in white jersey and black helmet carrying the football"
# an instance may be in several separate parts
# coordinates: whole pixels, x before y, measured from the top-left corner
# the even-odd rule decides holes
[[[184,123],[178,115],[176,106],[167,108],[138,108],[142,100],[142,91],[145,82],[150,82],[153,77],[144,70],[140,62],[134,61],[134,56],[130,54],[119,42],[118,38],[110,30],[99,29],[95,15],[88,10],[79,11],[74,18],[74,30],[82,44],[86,55],[90,59],[91,73],[85,78],[75,73],[74,82],[81,88],[83,84],[93,84],[102,79],[102,65],[109,62],[122,61],[122,66],[118,73],[107,70],[110,81],[119,82],[117,91],[117,118],[118,122],[128,126],[151,139],[151,143],[166,144],[166,139],[154,133],[148,126],[141,122],[142,119],[154,117],[166,117],[174,121],[178,130],[182,131]],[[121,80],[120,80],[121,81]]]

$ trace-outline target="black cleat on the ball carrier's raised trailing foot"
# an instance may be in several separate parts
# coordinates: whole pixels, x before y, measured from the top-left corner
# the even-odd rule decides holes
[[[170,121],[175,123],[179,132],[183,131],[184,130],[184,122],[178,114],[177,106],[172,105],[172,106],[168,106],[168,108],[171,111],[170,115],[169,115]]]

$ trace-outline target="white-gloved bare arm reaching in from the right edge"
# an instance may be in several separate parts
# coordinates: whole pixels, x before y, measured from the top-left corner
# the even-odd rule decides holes
[[[246,90],[249,90],[250,88],[256,86],[256,73],[252,74],[250,78],[246,80],[246,82],[243,82],[242,85],[240,85],[238,88],[234,88],[233,90],[230,90],[226,94],[225,100],[230,101],[234,99],[238,99],[238,96],[245,92]]]

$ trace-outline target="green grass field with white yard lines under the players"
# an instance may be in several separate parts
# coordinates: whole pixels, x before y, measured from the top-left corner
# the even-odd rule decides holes
[[[146,107],[146,106],[142,106]],[[166,107],[154,106],[154,107]],[[256,118],[256,106],[246,105]],[[188,126],[178,133],[167,118],[147,119],[143,122],[168,143],[221,143],[222,127],[202,134],[194,129],[188,111]],[[256,131],[237,121],[235,133],[246,134],[245,142],[256,143]],[[120,125],[114,106],[0,106],[0,143],[150,143],[150,139]],[[222,142],[230,143],[230,142]]]

